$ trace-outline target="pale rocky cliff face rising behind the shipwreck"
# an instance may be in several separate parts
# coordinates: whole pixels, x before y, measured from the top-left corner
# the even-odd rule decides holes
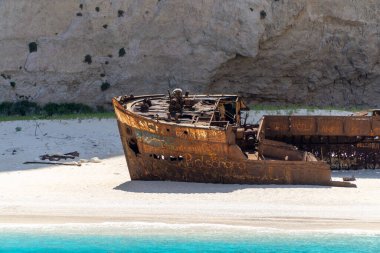
[[[380,104],[378,0],[0,0],[0,31],[0,101]]]

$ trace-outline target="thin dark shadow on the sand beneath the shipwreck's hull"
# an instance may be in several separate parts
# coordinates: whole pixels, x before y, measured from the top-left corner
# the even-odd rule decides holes
[[[317,185],[239,185],[239,184],[205,184],[171,181],[127,181],[114,190],[136,193],[230,193],[244,189],[270,189],[270,188],[330,188],[330,186]]]

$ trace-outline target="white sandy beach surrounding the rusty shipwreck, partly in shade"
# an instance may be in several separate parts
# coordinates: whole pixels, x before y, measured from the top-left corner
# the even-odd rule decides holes
[[[114,119],[0,122],[0,136],[3,224],[148,221],[380,231],[380,170],[334,173],[337,180],[355,175],[357,188],[130,181]],[[22,164],[72,151],[102,162]]]

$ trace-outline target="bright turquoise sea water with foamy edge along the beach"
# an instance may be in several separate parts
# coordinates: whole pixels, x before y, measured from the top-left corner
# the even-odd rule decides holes
[[[380,252],[380,235],[229,227],[3,228],[0,252]]]

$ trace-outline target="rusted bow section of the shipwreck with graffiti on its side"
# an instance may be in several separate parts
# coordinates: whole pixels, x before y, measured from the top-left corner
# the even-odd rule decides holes
[[[286,144],[271,148],[273,143],[258,141],[260,126],[240,124],[244,106],[236,96],[191,96],[182,103],[180,113],[168,113],[170,95],[113,99],[132,180],[354,186],[331,181],[326,162],[307,160]],[[208,107],[201,113],[192,108],[202,103]],[[265,159],[264,153],[284,154],[285,160]]]

